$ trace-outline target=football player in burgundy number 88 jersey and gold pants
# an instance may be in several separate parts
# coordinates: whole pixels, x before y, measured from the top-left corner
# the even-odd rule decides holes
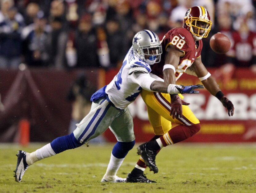
[[[152,66],[151,73],[152,77],[163,78],[169,84],[175,84],[183,73],[197,76],[204,87],[227,108],[228,115],[233,116],[232,102],[221,92],[201,61],[201,39],[208,36],[211,26],[209,13],[204,7],[190,8],[185,14],[183,28],[171,29],[163,37],[163,60]],[[152,183],[155,181],[147,179],[143,171],[149,166],[154,173],[158,172],[155,156],[159,150],[196,134],[200,130],[200,122],[180,94],[150,93],[142,89],[141,96],[147,105],[155,136],[149,142],[138,146],[141,157],[133,171],[128,174],[126,182]],[[177,126],[171,129],[171,123]]]

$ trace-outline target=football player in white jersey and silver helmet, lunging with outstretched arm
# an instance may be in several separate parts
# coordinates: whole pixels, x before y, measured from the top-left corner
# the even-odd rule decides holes
[[[116,173],[135,143],[133,120],[127,106],[138,97],[141,89],[170,94],[192,94],[199,93],[194,89],[203,88],[202,85],[168,85],[152,78],[149,74],[150,65],[161,60],[161,53],[162,46],[158,36],[150,30],[139,31],[134,36],[133,45],[119,73],[108,85],[92,95],[91,111],[76,124],[77,128],[73,133],[58,137],[32,153],[18,151],[15,180],[20,182],[28,166],[36,161],[80,147],[110,128],[118,142],[112,150],[109,166],[101,181],[125,182],[126,179],[119,178]]]

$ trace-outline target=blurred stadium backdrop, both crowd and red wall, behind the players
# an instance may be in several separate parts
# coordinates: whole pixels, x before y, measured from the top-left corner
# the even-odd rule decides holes
[[[207,91],[185,96],[201,121],[186,142],[256,142],[255,0],[1,0],[0,143],[49,142],[68,134],[90,108],[90,95],[118,72],[142,29],[161,39],[182,26],[186,10],[204,6],[213,28],[203,39],[202,61],[235,106],[228,117]],[[210,37],[226,34],[225,55]],[[180,84],[198,84],[189,75]],[[142,99],[129,106],[137,142],[151,139]],[[94,142],[114,142],[106,131]]]

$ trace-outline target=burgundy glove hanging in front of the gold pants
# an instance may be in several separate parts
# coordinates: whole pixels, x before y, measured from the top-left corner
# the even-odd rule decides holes
[[[171,95],[171,111],[170,115],[174,119],[182,117],[182,105],[189,105],[190,103],[186,103],[177,94],[172,94]]]

